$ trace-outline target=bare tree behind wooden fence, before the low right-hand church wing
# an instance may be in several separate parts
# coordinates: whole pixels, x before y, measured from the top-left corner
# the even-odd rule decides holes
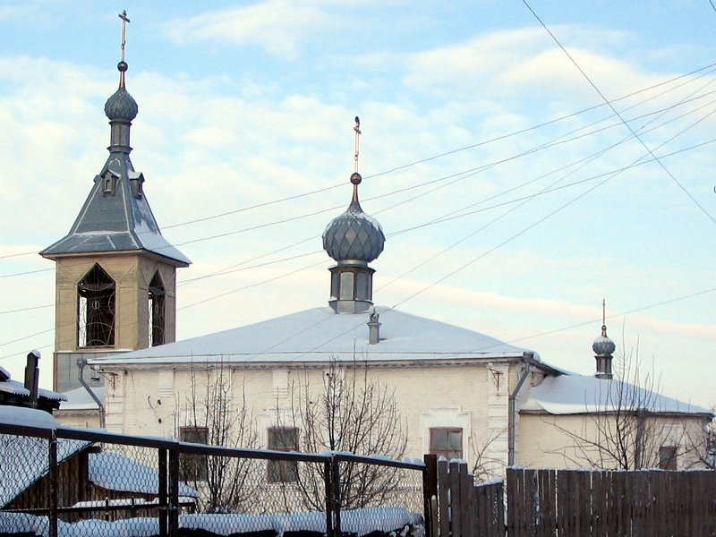
[[[642,370],[638,340],[618,358],[616,378],[599,380],[598,393],[584,401],[581,429],[555,424],[568,439],[558,452],[584,467],[675,468],[677,456],[695,448],[688,441],[690,418],[662,406],[653,371]]]

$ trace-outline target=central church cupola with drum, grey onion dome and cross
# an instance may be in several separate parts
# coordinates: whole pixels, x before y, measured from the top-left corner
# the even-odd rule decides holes
[[[345,213],[334,218],[323,232],[323,249],[337,261],[329,268],[331,293],[328,304],[337,313],[362,313],[373,305],[373,273],[368,266],[383,251],[386,237],[378,220],[363,212],[358,201],[358,149],[360,120],[355,117],[355,169],[351,175],[353,199]]]

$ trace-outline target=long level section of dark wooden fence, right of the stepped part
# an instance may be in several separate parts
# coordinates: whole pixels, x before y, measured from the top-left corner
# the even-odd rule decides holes
[[[509,468],[507,535],[716,535],[716,472]]]

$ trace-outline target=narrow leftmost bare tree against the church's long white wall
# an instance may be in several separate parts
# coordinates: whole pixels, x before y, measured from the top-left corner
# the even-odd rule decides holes
[[[259,447],[244,392],[237,401],[233,391],[232,371],[223,363],[216,368],[192,369],[179,421],[180,439],[210,446]],[[204,512],[250,510],[260,484],[256,466],[251,459],[237,457],[181,456],[183,479],[200,490],[200,510]]]

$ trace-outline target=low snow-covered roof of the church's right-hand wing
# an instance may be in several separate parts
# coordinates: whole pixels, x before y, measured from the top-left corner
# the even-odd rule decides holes
[[[710,410],[701,406],[662,396],[622,380],[574,374],[546,377],[530,390],[529,398],[520,407],[523,411],[550,414],[607,413],[618,409],[711,415]]]

